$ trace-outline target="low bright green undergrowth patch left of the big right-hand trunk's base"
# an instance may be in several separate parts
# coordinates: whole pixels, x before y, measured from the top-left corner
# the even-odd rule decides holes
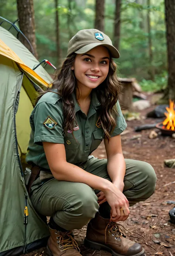
[[[167,74],[164,72],[161,76],[155,76],[155,81],[143,79],[140,86],[145,92],[155,92],[165,89],[167,86]]]

